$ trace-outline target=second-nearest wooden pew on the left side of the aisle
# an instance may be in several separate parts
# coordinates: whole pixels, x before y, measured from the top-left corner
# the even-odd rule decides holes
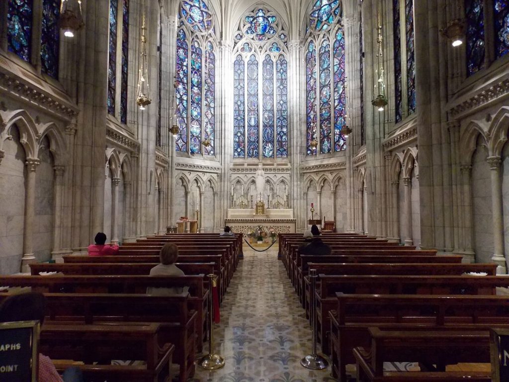
[[[3,302],[10,293],[0,294]],[[196,312],[188,310],[188,296],[143,294],[45,293],[46,316],[51,321],[97,324],[104,322],[159,322],[159,343],[175,345],[180,380],[194,374]]]

